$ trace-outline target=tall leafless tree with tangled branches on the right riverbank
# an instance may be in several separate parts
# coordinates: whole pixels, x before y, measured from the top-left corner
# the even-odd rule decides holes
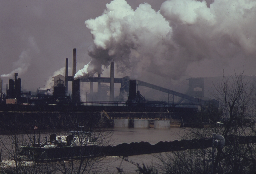
[[[211,148],[186,150],[158,155],[166,173],[255,173],[256,145],[244,142],[245,136],[256,135],[255,82],[246,80],[243,74],[223,76],[212,94],[219,102],[201,106],[194,118],[196,123],[210,124],[204,128],[186,129],[182,139],[211,137],[212,133],[224,136],[228,146],[218,149],[211,171]],[[218,124],[216,124],[218,122]],[[221,126],[222,122],[224,126]]]

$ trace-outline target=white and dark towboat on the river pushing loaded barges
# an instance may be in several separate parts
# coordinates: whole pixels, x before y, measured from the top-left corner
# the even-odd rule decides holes
[[[91,157],[97,155],[96,137],[91,133],[71,131],[69,135],[50,135],[50,141],[36,142],[33,136],[33,144],[21,146],[20,155],[24,160],[49,161],[75,159],[81,156]]]

